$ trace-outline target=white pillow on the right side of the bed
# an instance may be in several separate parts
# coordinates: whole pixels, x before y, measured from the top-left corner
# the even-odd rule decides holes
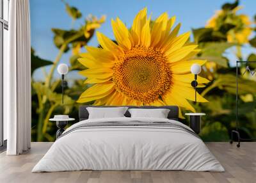
[[[131,118],[167,118],[170,109],[128,109]]]

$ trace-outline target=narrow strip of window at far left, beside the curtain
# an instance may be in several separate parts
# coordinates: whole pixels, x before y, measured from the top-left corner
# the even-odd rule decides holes
[[[9,0],[0,0],[0,147],[6,145],[6,123],[3,120],[3,63],[7,59]],[[1,149],[0,149],[1,150]]]

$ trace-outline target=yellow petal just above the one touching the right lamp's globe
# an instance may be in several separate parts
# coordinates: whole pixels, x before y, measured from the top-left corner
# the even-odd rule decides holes
[[[174,51],[170,54],[167,55],[168,61],[170,63],[175,62],[175,61],[180,61],[182,60],[185,56],[187,56],[191,51],[193,51],[197,45],[189,45],[182,47],[178,49],[177,51]]]

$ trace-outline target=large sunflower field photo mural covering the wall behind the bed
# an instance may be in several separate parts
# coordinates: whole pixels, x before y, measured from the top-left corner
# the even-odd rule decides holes
[[[165,7],[150,14],[154,9],[150,3],[136,8],[140,12],[129,13],[131,23],[127,23],[124,20],[128,19],[127,13],[104,15],[105,10],[98,11],[96,5],[95,10],[86,11],[97,16],[84,15],[81,10],[86,3],[82,1],[54,1],[52,9],[45,1],[31,1],[32,140],[54,141],[56,124],[49,122],[49,118],[63,114],[76,118],[77,122],[78,108],[86,104],[175,105],[180,107],[180,121],[185,124],[189,119],[184,118],[184,113],[206,113],[202,118],[201,138],[227,141],[236,127],[234,63],[256,61],[255,12],[250,9],[251,1],[239,3],[218,4],[220,10],[204,18],[197,28],[189,24],[193,28],[190,30],[184,17],[169,17],[171,13],[165,12]],[[44,17],[42,4],[52,20]],[[243,9],[241,5],[246,6]],[[252,12],[244,12],[248,6]],[[56,12],[65,13],[64,17],[54,16]],[[59,63],[67,63],[69,67],[64,104],[61,77],[56,71]],[[195,90],[191,87],[193,63],[202,66],[196,104]],[[256,64],[249,66],[252,72],[256,68]],[[244,74],[247,67],[239,67],[239,131],[243,138],[256,138],[256,75]]]

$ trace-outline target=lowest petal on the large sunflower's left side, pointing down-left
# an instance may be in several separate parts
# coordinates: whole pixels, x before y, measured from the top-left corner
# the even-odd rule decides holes
[[[90,102],[96,99],[101,99],[106,95],[109,95],[115,88],[114,83],[107,82],[102,84],[95,84],[92,87],[85,90],[77,100],[78,103]]]

